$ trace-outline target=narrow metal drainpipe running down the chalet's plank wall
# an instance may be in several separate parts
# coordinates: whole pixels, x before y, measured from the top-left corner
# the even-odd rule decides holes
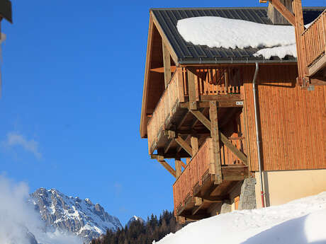
[[[258,165],[259,165],[259,176],[260,176],[260,194],[262,196],[262,207],[265,207],[264,200],[264,187],[263,187],[263,176],[262,176],[262,153],[260,148],[260,136],[259,136],[259,125],[258,125],[258,104],[257,104],[257,88],[256,80],[259,71],[259,64],[256,62],[256,70],[254,71],[254,80],[252,81],[252,91],[254,93],[254,121],[256,122],[256,139],[257,139],[257,153],[258,153]]]

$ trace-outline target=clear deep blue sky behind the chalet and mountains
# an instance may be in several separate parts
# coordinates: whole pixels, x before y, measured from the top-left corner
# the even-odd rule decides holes
[[[303,1],[326,6],[325,0]],[[0,174],[99,202],[124,224],[173,209],[139,123],[149,9],[250,1],[13,1],[2,22]]]

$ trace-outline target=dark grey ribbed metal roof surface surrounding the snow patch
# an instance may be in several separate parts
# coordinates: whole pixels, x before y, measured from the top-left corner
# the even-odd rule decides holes
[[[322,13],[325,7],[303,8],[304,22],[310,23]],[[152,13],[159,22],[167,39],[171,43],[180,64],[215,64],[230,62],[269,62],[263,57],[254,57],[253,54],[259,49],[226,49],[210,48],[203,45],[193,45],[186,42],[178,30],[176,23],[183,18],[199,16],[218,16],[223,18],[234,18],[243,21],[252,21],[272,25],[267,17],[267,8],[152,8]],[[272,57],[272,62],[296,62],[294,57],[279,59]]]

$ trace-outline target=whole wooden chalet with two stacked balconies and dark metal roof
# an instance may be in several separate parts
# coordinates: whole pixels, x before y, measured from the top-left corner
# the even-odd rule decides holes
[[[245,179],[257,182],[257,207],[326,190],[326,86],[311,85],[314,76],[325,78],[313,68],[320,52],[325,55],[325,29],[318,32],[325,28],[325,8],[303,8],[305,24],[317,18],[303,35],[319,38],[307,39],[316,49],[309,53],[314,71],[308,88],[297,82],[294,57],[264,59],[254,57],[257,48],[193,45],[176,29],[180,19],[196,16],[282,24],[278,14],[264,7],[150,10],[140,136],[148,140],[150,157],[176,178],[179,221],[219,214],[223,204],[245,208]]]

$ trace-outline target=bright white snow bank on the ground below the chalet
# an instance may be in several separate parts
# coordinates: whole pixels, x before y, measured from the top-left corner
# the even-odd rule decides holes
[[[265,209],[232,211],[190,223],[157,244],[326,243],[326,192]]]

